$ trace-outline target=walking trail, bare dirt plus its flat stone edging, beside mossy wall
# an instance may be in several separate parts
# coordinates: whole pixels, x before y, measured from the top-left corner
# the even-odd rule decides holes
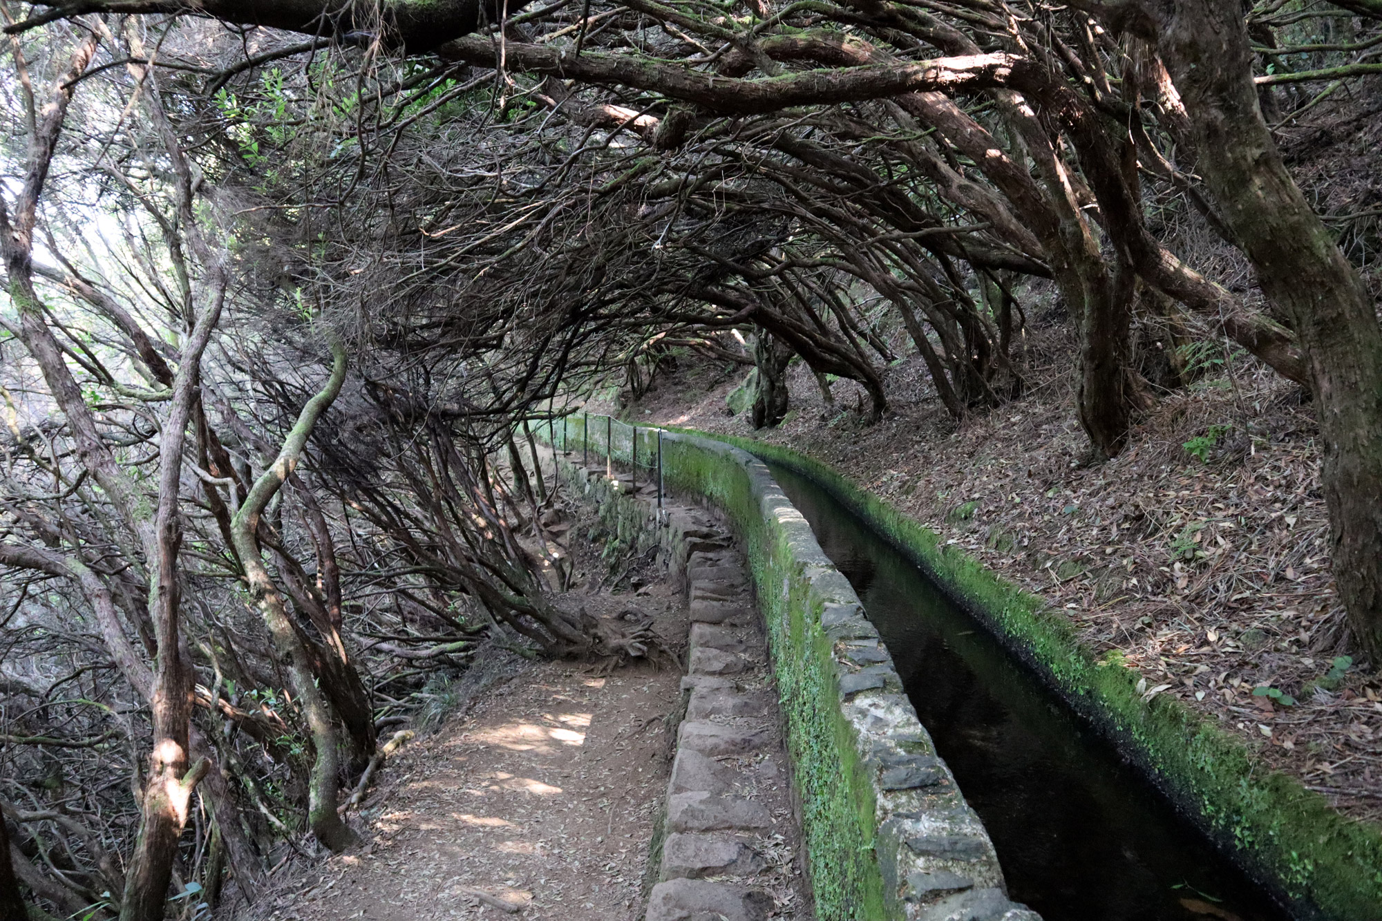
[[[622,477],[615,491],[634,492]],[[636,495],[651,510],[656,494]],[[554,603],[596,618],[636,608],[690,673],[477,654],[445,693],[445,722],[388,762],[351,817],[361,846],[286,862],[275,895],[239,921],[813,917],[766,636],[732,537],[668,501],[662,527],[681,550],[638,553],[637,590],[615,595],[580,503],[569,496],[554,521],[578,579]]]

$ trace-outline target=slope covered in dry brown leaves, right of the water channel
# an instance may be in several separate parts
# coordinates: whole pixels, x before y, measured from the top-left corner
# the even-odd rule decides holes
[[[1089,465],[1056,310],[1028,303],[1025,397],[960,425],[916,358],[884,369],[891,409],[878,425],[853,382],[835,382],[828,404],[797,362],[788,419],[755,431],[726,405],[745,368],[694,355],[623,412],[833,465],[1064,610],[1089,647],[1143,673],[1148,698],[1173,694],[1345,813],[1382,819],[1382,675],[1349,646],[1300,390],[1224,355],[1162,394],[1118,458]],[[900,331],[890,342],[915,353]],[[1345,655],[1359,661],[1336,668]]]

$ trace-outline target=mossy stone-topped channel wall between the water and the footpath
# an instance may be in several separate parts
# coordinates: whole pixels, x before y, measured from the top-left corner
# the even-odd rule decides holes
[[[590,444],[580,418],[551,437],[590,456],[608,447],[627,462],[634,444],[640,461],[658,456],[656,430],[615,425],[608,434],[603,418],[590,419]],[[767,625],[818,917],[967,911],[1038,921],[1007,902],[988,834],[936,756],[878,631],[768,469],[745,451],[690,434],[662,433],[661,456],[668,490],[719,506],[744,543]],[[625,530],[640,517],[614,514]]]

